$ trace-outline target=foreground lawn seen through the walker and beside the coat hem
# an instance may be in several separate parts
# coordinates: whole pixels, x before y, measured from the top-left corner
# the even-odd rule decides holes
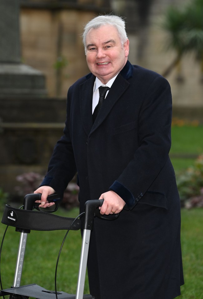
[[[75,217],[75,208],[70,212],[60,210],[58,215]],[[203,299],[203,209],[181,210],[181,242],[185,285],[181,287],[182,299]],[[0,235],[6,225],[0,224]],[[54,290],[56,260],[66,231],[36,232],[27,237],[21,285],[36,283]],[[13,282],[20,234],[9,227],[2,248],[1,274],[3,288]],[[80,231],[70,231],[61,252],[57,271],[57,290],[74,294],[76,291],[80,260]],[[88,280],[85,293],[89,293]],[[144,299],[144,298],[143,298]]]

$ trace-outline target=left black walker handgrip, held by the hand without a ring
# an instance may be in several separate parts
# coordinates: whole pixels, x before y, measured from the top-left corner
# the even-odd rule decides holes
[[[24,197],[23,209],[24,210],[33,210],[34,208],[36,208],[36,207],[34,207],[34,205],[36,204],[35,203],[36,200],[41,200],[41,193],[27,194]],[[47,201],[49,201],[49,202],[56,202],[59,200],[60,200],[60,198],[56,193],[47,196]]]

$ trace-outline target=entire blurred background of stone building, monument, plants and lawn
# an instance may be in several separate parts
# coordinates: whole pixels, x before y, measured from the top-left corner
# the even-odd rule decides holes
[[[203,0],[0,0],[0,213],[6,203],[22,205],[23,197],[46,174],[53,147],[63,134],[67,90],[89,73],[83,27],[105,13],[125,18],[130,62],[160,73],[171,84],[170,158],[182,207],[181,298],[203,299]],[[57,212],[76,217],[77,195],[73,179]],[[4,229],[2,224],[1,235]],[[38,233],[30,234],[22,284],[34,277],[40,285],[43,273],[49,277],[44,287],[54,289],[64,231],[40,234],[43,237]],[[4,242],[4,288],[11,286],[13,277],[15,235],[10,232]],[[57,283],[59,289],[75,293],[80,232],[72,238],[63,250]],[[67,268],[72,271],[67,273]]]

